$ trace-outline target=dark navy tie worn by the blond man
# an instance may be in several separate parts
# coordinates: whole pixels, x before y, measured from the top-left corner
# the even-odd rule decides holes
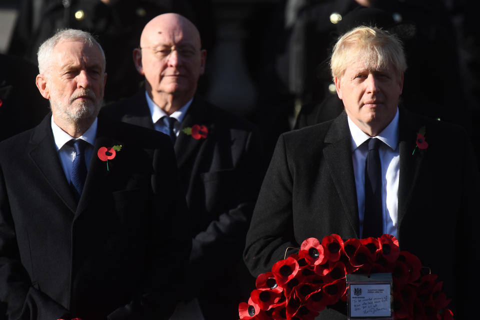
[[[381,212],[381,165],[378,147],[381,140],[368,139],[368,153],[365,160],[365,212],[363,215],[362,237],[379,237],[383,232]]]

